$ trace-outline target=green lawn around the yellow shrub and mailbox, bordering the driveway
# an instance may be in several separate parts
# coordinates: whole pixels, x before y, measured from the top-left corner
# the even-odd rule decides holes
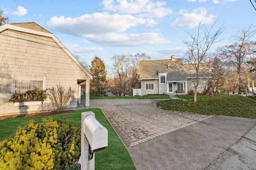
[[[44,117],[63,117],[67,122],[78,124],[81,126],[81,113],[92,111],[95,113],[96,119],[108,129],[108,147],[104,150],[95,152],[95,169],[96,170],[136,170],[128,150],[112,128],[108,119],[105,117],[101,109],[83,109],[74,111],[67,115],[55,115]],[[15,134],[18,126],[24,126],[29,123],[30,119],[41,122],[43,117],[19,117],[13,119],[0,120],[0,141],[7,139]]]

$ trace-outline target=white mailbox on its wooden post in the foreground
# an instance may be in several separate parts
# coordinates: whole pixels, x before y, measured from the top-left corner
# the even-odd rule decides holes
[[[82,112],[81,170],[94,170],[94,152],[108,146],[108,130],[92,111]]]

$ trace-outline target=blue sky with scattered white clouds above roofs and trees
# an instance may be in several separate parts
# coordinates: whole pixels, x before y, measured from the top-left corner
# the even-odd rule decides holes
[[[181,58],[182,40],[190,41],[187,32],[200,21],[226,27],[214,47],[256,21],[250,0],[5,0],[0,8],[10,22],[48,29],[81,61],[90,64],[97,55],[108,66],[113,55],[128,53]]]

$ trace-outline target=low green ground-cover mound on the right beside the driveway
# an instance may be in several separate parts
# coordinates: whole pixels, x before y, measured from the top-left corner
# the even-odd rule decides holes
[[[180,96],[184,99],[185,96]],[[200,97],[200,96],[198,96]],[[188,98],[185,98],[188,99]],[[256,119],[256,97],[240,95],[220,95],[194,100],[164,100],[157,107],[172,111],[186,111],[205,115],[227,115]]]

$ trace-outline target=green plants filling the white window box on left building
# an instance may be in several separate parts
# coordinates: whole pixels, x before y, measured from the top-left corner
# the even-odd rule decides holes
[[[24,93],[16,93],[11,96],[9,102],[34,102],[34,101],[44,101],[47,98],[47,90],[39,90],[35,88],[33,90],[28,90]]]

